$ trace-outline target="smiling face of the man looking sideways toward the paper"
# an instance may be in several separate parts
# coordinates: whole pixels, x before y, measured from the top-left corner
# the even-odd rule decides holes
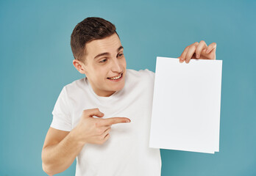
[[[124,87],[127,62],[117,34],[86,44],[85,75],[97,95],[107,97]]]

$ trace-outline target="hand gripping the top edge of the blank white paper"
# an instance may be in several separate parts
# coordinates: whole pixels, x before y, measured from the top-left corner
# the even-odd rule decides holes
[[[216,59],[216,43],[206,45],[205,41],[202,40],[200,43],[196,42],[188,45],[182,54],[178,57],[179,62],[188,63],[191,59]]]

